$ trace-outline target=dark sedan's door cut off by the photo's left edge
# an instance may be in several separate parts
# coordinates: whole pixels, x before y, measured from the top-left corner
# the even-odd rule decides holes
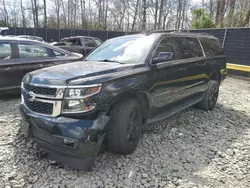
[[[15,52],[14,42],[0,42],[0,90],[16,89],[21,85],[21,66],[15,59]]]

